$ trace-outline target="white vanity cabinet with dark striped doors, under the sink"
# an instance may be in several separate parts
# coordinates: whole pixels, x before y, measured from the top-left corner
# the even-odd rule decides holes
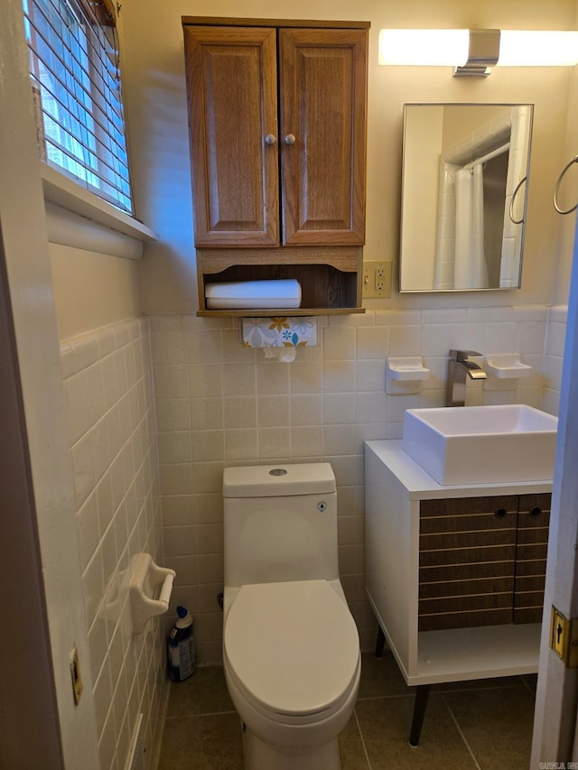
[[[442,486],[402,441],[366,441],[365,474],[366,590],[406,683],[535,673],[552,482]]]

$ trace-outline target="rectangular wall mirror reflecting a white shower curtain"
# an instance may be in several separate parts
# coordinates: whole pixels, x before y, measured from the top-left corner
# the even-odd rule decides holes
[[[400,292],[517,289],[533,105],[406,104]]]

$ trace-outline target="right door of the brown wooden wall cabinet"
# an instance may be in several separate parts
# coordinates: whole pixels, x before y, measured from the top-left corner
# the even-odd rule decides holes
[[[279,37],[283,242],[365,239],[367,31]]]

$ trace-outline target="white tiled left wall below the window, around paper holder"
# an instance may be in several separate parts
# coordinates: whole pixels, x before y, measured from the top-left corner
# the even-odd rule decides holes
[[[163,563],[147,321],[129,320],[62,343],[61,366],[89,628],[84,664],[95,682],[101,767],[125,770],[141,712],[152,759],[167,683],[164,620],[150,620],[144,634],[133,637],[127,601],[135,553],[150,552]],[[173,463],[179,451],[176,442],[163,447],[164,459]],[[175,483],[172,478],[171,488]]]

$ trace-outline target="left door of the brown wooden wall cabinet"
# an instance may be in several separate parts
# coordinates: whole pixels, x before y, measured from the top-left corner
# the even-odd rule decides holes
[[[184,42],[195,245],[278,246],[275,30],[185,26]]]

